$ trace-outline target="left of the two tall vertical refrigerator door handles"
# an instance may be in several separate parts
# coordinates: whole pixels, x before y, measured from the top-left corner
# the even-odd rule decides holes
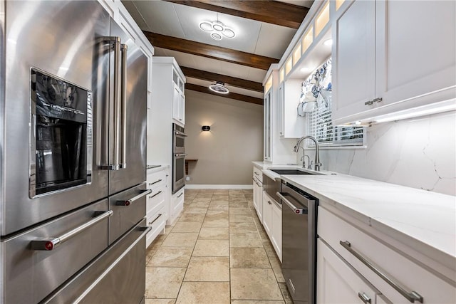
[[[114,100],[114,117],[113,117],[113,123],[114,123],[114,157],[113,157],[113,162],[110,164],[102,164],[100,166],[100,169],[105,169],[105,170],[118,170],[120,169],[120,164],[119,164],[119,137],[120,137],[120,126],[119,126],[119,116],[120,116],[120,105],[119,105],[119,100],[120,100],[120,48],[121,48],[121,43],[120,43],[120,37],[117,36],[109,36],[109,37],[103,37],[103,42],[105,43],[110,43],[114,45],[114,90],[113,90],[113,100]],[[109,147],[107,147],[105,153],[109,154]],[[108,157],[107,157],[108,158]]]

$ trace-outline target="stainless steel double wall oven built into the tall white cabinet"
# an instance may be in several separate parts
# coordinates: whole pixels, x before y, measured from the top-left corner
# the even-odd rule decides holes
[[[172,124],[172,194],[185,186],[185,137],[184,128]]]

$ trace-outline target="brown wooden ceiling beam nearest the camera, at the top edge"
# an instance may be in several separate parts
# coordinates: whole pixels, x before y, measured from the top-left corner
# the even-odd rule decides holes
[[[219,13],[272,23],[278,26],[299,28],[308,8],[279,1],[199,0],[175,1],[176,4],[217,11]]]

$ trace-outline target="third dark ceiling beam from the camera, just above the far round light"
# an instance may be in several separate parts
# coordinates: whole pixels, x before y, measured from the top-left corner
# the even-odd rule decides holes
[[[221,75],[217,73],[207,72],[206,70],[196,70],[195,68],[187,68],[181,66],[180,69],[184,73],[185,77],[197,78],[208,81],[222,81],[226,85],[232,85],[236,88],[243,88],[247,90],[254,90],[256,92],[263,92],[263,85],[261,83],[256,83],[251,80],[244,80],[241,78],[236,78],[227,75]]]

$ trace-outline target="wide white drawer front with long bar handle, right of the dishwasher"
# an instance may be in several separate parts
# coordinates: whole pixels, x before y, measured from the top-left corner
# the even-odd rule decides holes
[[[456,303],[455,286],[321,206],[318,207],[317,232],[321,239],[326,241],[391,302],[410,303],[412,301],[408,300],[397,288],[388,284],[384,278],[361,260],[371,263],[374,268],[383,273],[385,278],[392,280],[393,285],[397,285],[404,292],[418,293],[423,297],[423,303]],[[350,243],[349,247],[341,244],[345,241]]]

